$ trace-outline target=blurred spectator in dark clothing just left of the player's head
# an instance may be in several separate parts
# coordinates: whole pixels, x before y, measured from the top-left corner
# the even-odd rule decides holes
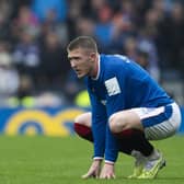
[[[64,65],[67,56],[56,32],[49,31],[39,48],[39,88],[57,90],[58,83],[64,87],[69,65]]]

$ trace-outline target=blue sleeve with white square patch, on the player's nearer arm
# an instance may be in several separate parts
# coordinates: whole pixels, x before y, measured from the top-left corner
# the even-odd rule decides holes
[[[114,113],[125,108],[125,78],[119,71],[114,73],[110,73],[110,77],[105,80],[105,88],[107,91],[106,111],[108,118]],[[118,156],[118,143],[115,136],[111,133],[110,126],[107,126],[106,129],[105,148],[105,161],[115,162]]]

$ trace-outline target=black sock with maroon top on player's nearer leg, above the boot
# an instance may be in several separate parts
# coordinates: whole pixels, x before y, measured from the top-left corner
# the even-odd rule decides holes
[[[146,139],[141,130],[127,129],[115,135],[118,138],[119,150],[125,153],[130,154],[133,150],[137,150],[148,157],[153,151],[153,146]]]

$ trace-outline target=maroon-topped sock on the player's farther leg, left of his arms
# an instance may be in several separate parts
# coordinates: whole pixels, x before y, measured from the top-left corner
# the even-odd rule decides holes
[[[92,135],[91,128],[89,128],[88,126],[74,123],[73,129],[80,137],[89,141],[93,141],[93,135]]]

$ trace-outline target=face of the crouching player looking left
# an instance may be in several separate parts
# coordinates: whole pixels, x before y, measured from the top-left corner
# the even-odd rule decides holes
[[[90,76],[91,71],[93,70],[94,53],[87,51],[82,48],[77,48],[68,51],[68,59],[78,78]]]

